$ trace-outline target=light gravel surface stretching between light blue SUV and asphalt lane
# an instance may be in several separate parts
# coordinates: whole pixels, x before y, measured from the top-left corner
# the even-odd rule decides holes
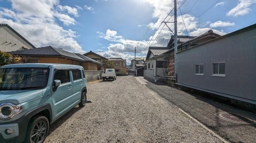
[[[87,85],[87,103],[50,127],[45,143],[221,143],[131,76]]]

